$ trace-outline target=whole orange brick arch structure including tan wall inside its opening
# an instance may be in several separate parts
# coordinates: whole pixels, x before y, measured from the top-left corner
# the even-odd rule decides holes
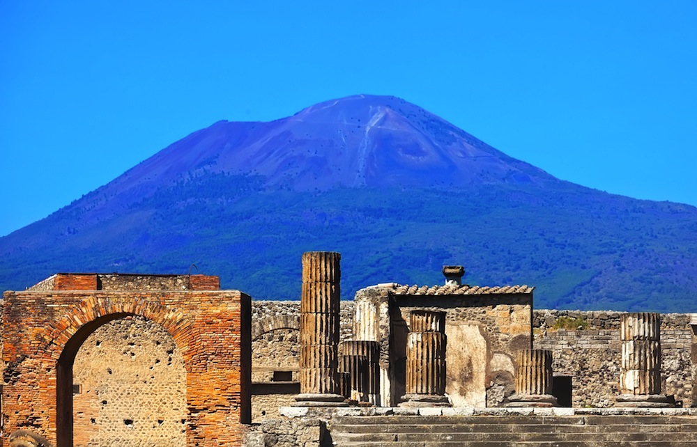
[[[217,276],[56,274],[5,292],[3,446],[31,445],[31,434],[59,447],[240,444],[251,422],[251,301],[219,288]],[[129,340],[109,330],[124,319],[158,328]],[[102,351],[112,358],[87,371],[83,351],[123,348],[119,338],[128,349]],[[123,356],[140,368],[125,373]]]

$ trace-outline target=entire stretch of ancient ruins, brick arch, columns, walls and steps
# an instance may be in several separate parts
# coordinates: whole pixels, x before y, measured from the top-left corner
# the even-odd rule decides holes
[[[302,256],[300,301],[204,275],[5,292],[0,446],[697,446],[693,315],[536,311],[461,266],[340,301],[340,260]]]

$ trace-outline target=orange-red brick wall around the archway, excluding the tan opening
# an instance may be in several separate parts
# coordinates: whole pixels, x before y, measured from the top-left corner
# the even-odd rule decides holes
[[[96,327],[130,314],[162,325],[183,353],[190,410],[187,446],[241,444],[250,419],[249,296],[211,290],[26,291],[5,292],[4,297],[5,433],[24,428],[57,441],[56,447],[72,445],[56,434],[61,432],[57,424],[66,421],[56,411],[60,396],[70,396],[72,402],[72,378],[61,379],[68,377],[60,374],[66,370],[62,365],[72,364],[69,357]],[[63,382],[70,382],[70,393],[59,392],[57,385]]]

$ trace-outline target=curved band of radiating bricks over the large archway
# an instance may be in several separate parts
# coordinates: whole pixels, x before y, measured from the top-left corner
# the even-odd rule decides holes
[[[45,335],[45,352],[58,361],[63,354],[63,348],[72,336],[86,324],[103,320],[98,324],[100,326],[109,319],[125,315],[140,315],[160,324],[174,338],[174,343],[182,354],[188,350],[191,320],[176,308],[169,308],[142,298],[89,297],[77,304],[61,319],[48,325]]]

